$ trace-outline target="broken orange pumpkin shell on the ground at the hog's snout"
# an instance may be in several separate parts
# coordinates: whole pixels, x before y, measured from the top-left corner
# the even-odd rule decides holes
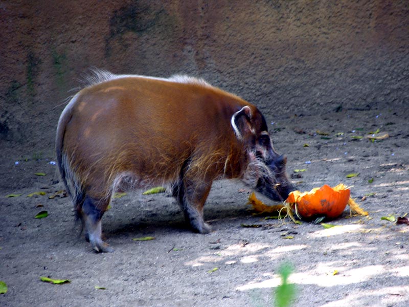
[[[293,205],[297,215],[310,219],[316,215],[335,218],[342,214],[350,199],[350,190],[343,184],[334,188],[323,185],[309,192],[293,191],[289,194],[287,204]]]

